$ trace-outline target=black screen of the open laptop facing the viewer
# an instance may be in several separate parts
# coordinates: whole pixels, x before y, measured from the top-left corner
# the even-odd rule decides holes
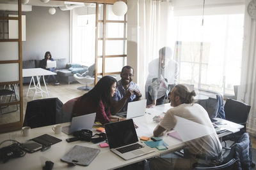
[[[109,148],[118,148],[138,142],[132,119],[105,124]]]

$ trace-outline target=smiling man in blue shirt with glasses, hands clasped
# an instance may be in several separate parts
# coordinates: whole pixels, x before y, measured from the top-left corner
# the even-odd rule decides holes
[[[132,82],[134,71],[131,66],[124,66],[121,71],[121,80],[117,82],[116,93],[113,96],[113,107],[111,113],[127,111],[127,104],[141,99],[138,85]]]

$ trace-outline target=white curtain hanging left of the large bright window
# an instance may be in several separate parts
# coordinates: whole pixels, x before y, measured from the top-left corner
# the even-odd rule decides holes
[[[158,51],[168,43],[168,20],[172,13],[169,2],[137,0],[138,3],[138,79],[141,92],[148,75],[148,62],[158,57]]]

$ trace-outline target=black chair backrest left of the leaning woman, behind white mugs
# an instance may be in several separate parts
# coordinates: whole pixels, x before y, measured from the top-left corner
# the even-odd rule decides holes
[[[57,97],[28,102],[23,126],[35,128],[63,123],[62,106]]]

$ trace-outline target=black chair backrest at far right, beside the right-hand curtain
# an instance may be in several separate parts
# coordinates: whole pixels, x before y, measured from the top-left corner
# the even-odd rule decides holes
[[[246,125],[250,109],[251,106],[248,104],[233,99],[227,99],[224,106],[225,117],[231,122]]]

